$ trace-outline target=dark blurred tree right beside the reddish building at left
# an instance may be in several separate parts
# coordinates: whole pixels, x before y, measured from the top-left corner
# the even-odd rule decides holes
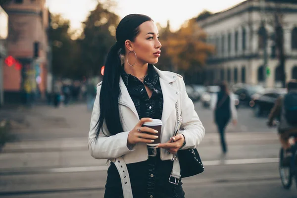
[[[49,41],[52,49],[52,73],[57,77],[79,78],[79,50],[71,40],[70,22],[59,14],[51,14]]]

